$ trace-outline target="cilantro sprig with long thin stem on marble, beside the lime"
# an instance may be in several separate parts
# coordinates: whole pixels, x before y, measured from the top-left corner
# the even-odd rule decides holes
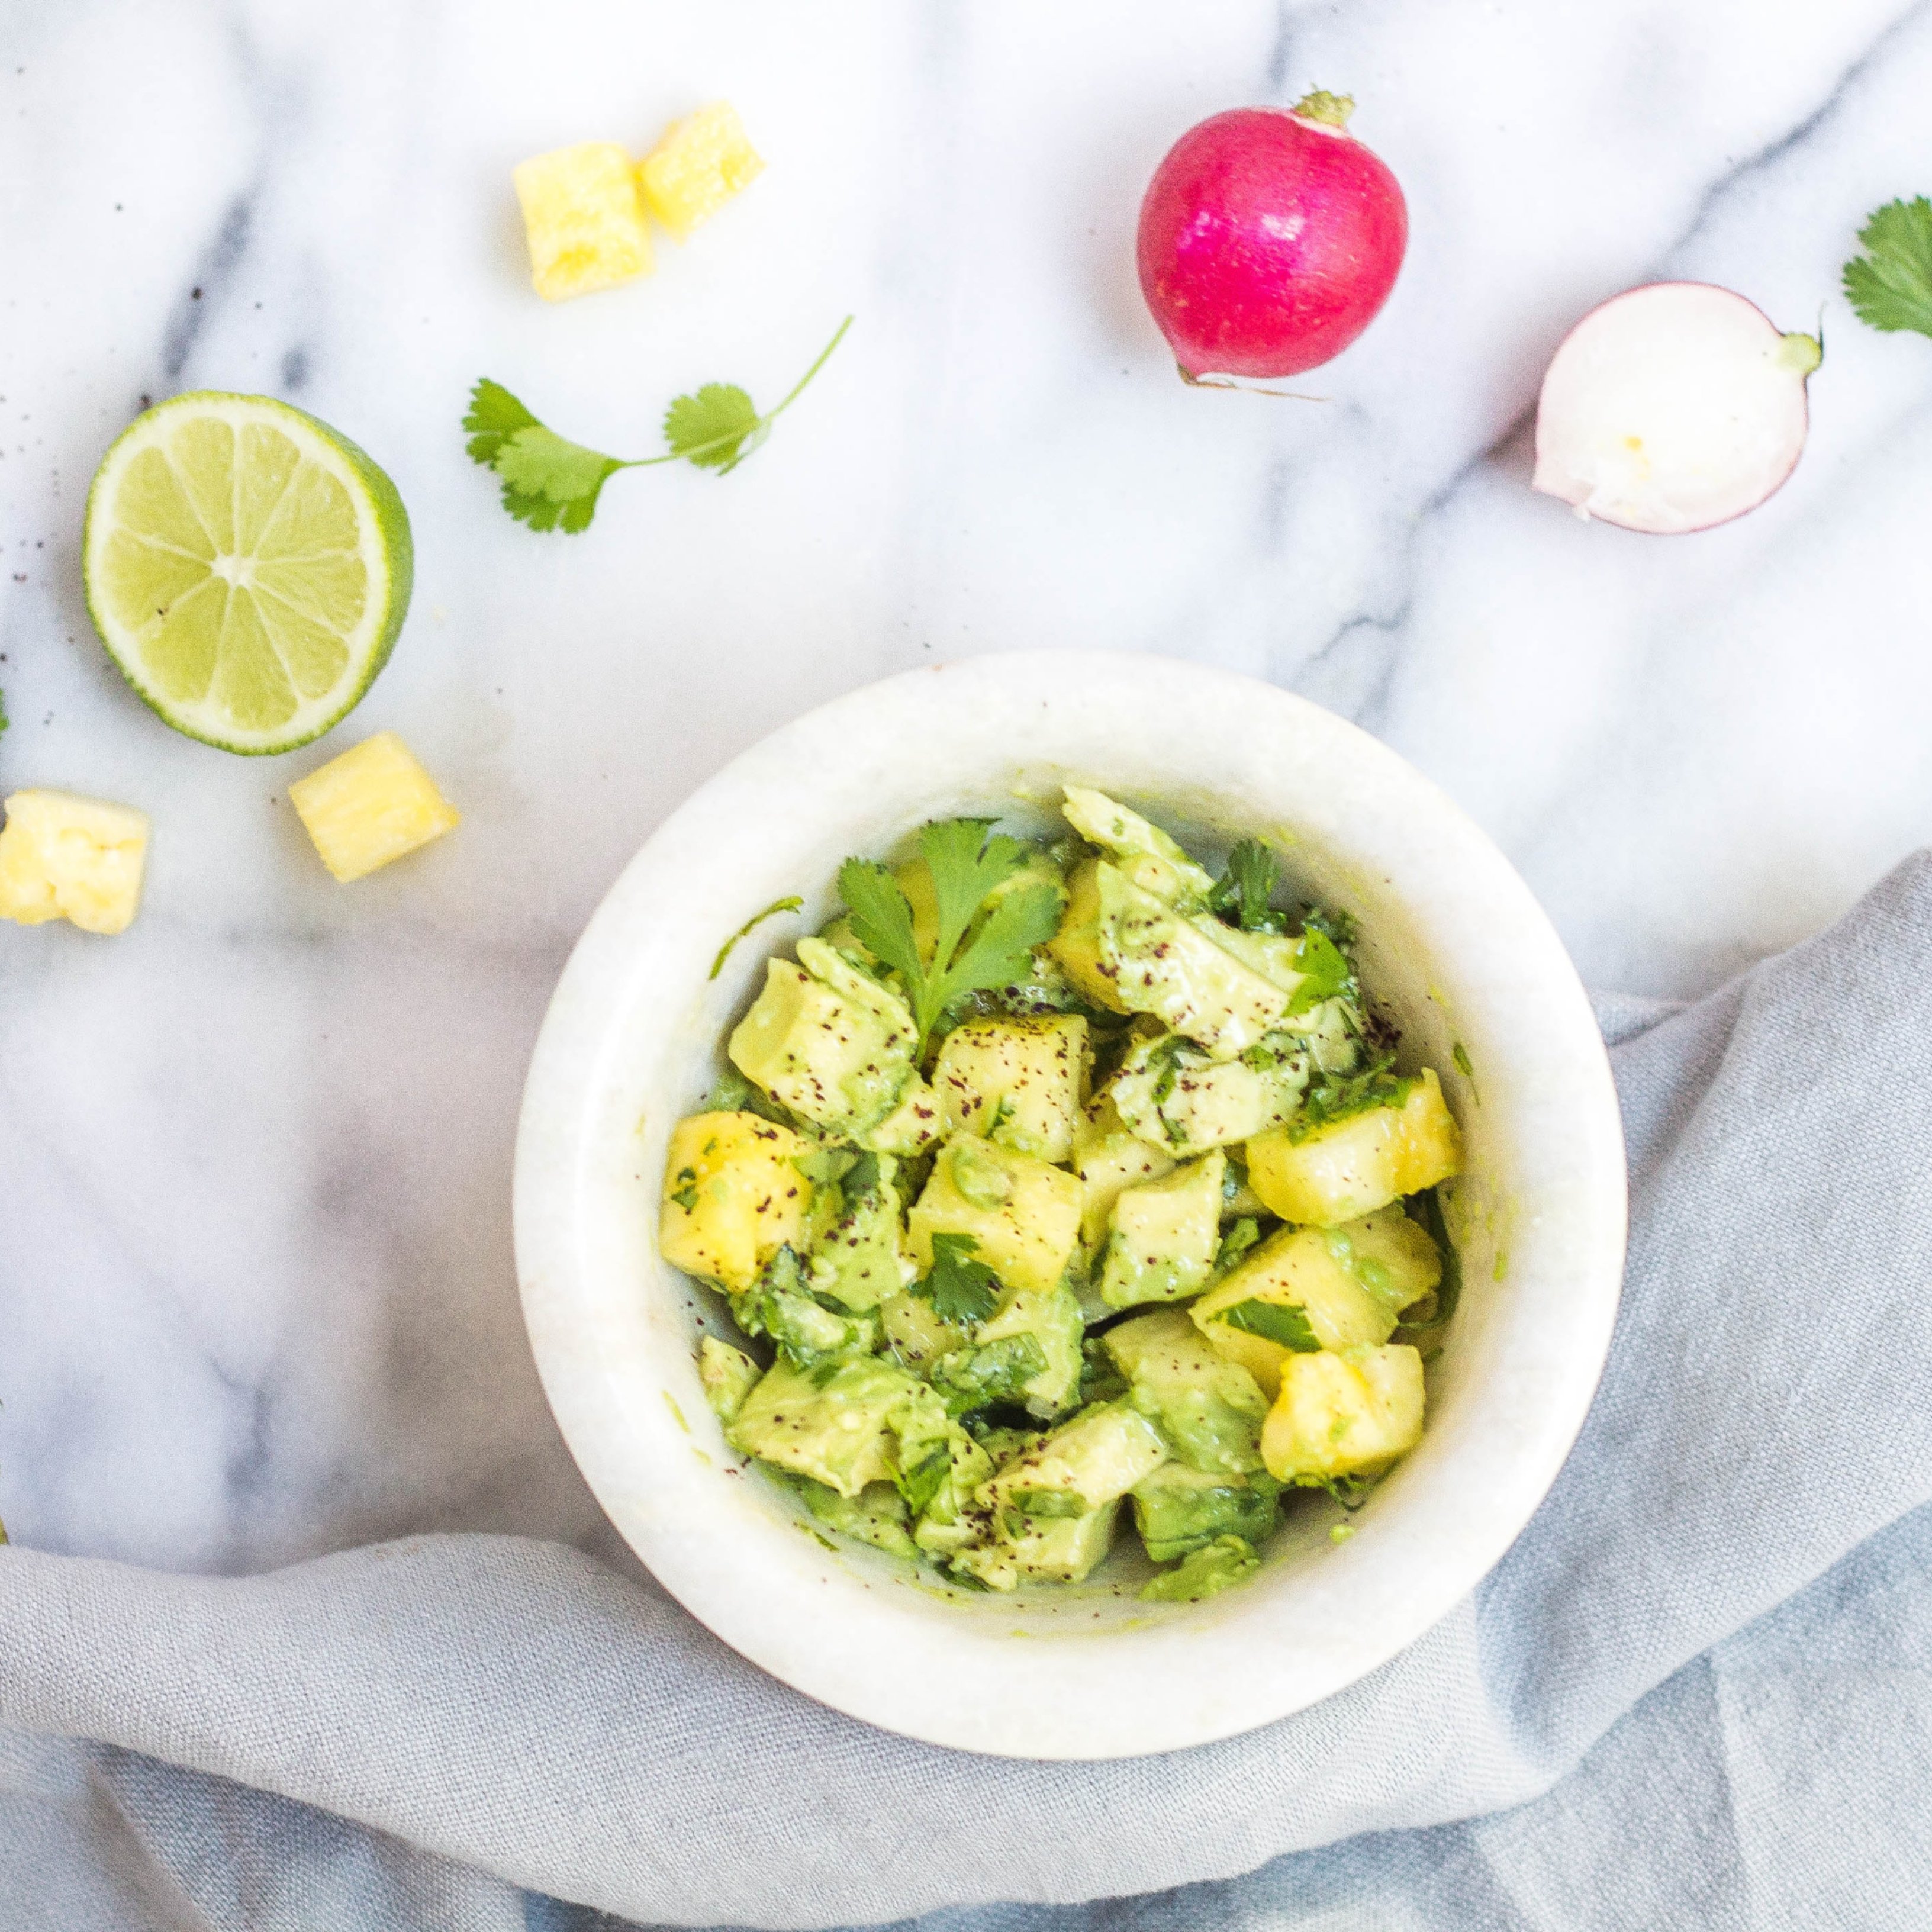
[[[605,456],[572,442],[537,417],[500,383],[483,377],[469,392],[464,429],[469,458],[502,479],[502,506],[531,529],[589,529],[597,498],[618,469],[655,464],[694,464],[730,475],[771,435],[771,425],[798,402],[806,384],[825,367],[852,327],[848,315],[819,352],[819,359],[792,384],[790,394],[763,415],[736,383],[705,383],[690,396],[676,396],[665,410],[663,456]]]

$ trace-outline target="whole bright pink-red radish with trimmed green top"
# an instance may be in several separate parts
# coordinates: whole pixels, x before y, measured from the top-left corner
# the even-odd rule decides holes
[[[1408,209],[1343,124],[1347,95],[1190,128],[1140,205],[1140,290],[1180,375],[1300,375],[1389,299]]]

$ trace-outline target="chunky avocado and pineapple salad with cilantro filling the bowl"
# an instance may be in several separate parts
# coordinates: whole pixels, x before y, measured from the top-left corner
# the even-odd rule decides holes
[[[1267,846],[1215,877],[1099,792],[1065,815],[846,860],[672,1130],[659,1248],[726,1296],[726,1441],[829,1530],[1012,1590],[1130,1515],[1140,1594],[1192,1602],[1420,1439],[1461,1136]]]

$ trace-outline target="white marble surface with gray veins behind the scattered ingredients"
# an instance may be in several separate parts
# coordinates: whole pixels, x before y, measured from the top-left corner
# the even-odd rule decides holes
[[[1144,180],[1204,114],[1360,99],[1414,240],[1320,406],[1184,390]],[[653,282],[549,309],[522,155],[732,97],[769,172]],[[1837,298],[1932,189],[1932,8],[1897,0],[0,0],[0,786],[155,815],[124,939],[0,927],[0,1515],[247,1569],[427,1524],[593,1542],[516,1310],[508,1165],[549,987],[651,827],[883,672],[1076,643],[1356,717],[1519,862],[1584,976],[1694,991],[1932,829],[1932,344]],[[1592,301],[1820,305],[1810,450],[1642,539],[1530,495]],[[495,375],[641,452],[707,379],[781,392],[728,479],[618,477],[537,537],[462,456]],[[396,477],[417,595],[338,742],[468,813],[354,889],[319,759],[166,732],[93,641],[87,477],[143,396],[288,394]]]

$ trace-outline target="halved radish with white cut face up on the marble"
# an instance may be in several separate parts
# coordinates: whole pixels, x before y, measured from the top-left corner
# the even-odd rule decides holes
[[[1756,510],[1797,468],[1816,336],[1743,296],[1650,282],[1592,309],[1536,404],[1536,489],[1578,516],[1677,535]]]

